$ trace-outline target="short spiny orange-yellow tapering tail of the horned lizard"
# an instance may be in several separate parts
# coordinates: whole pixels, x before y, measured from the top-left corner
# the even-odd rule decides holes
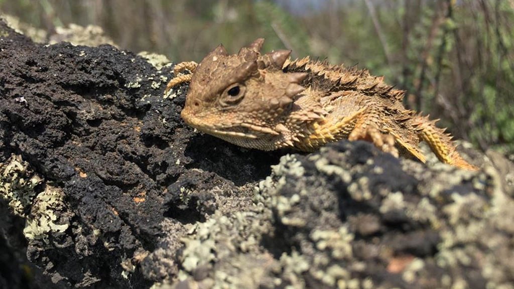
[[[478,170],[478,167],[469,164],[457,152],[450,134],[445,133],[446,129],[437,128],[435,126],[436,121],[430,120],[428,116],[417,115],[409,122],[417,131],[419,138],[428,143],[430,149],[440,161],[466,170]]]

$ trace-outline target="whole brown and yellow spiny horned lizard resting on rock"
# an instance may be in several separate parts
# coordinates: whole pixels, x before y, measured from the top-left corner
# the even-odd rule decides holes
[[[347,138],[371,141],[382,151],[425,162],[418,145],[428,143],[439,160],[476,170],[456,151],[451,136],[402,105],[404,91],[367,70],[290,50],[261,55],[264,39],[228,55],[219,45],[199,64],[175,66],[166,88],[190,82],[182,118],[191,127],[246,148],[314,151]],[[189,69],[192,74],[178,75]]]

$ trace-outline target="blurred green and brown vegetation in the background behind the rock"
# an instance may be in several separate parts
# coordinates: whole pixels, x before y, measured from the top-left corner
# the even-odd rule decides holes
[[[514,0],[0,0],[51,34],[101,26],[123,49],[200,61],[223,43],[358,64],[481,149],[514,155]]]

